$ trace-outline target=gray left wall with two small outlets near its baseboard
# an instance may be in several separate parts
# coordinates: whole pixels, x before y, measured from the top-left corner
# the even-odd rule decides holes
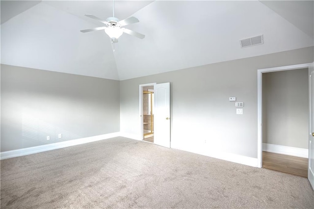
[[[1,64],[1,152],[117,132],[119,124],[119,81]]]

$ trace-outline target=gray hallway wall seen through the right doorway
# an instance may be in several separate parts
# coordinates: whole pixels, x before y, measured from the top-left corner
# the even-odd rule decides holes
[[[308,149],[308,71],[262,74],[263,143]]]

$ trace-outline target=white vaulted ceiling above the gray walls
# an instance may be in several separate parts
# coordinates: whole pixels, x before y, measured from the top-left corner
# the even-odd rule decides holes
[[[112,1],[1,0],[1,63],[124,80],[314,45],[313,1],[117,0],[115,17],[140,20],[115,52],[103,26]],[[3,12],[5,11],[5,12]],[[2,21],[3,19],[3,21]],[[264,44],[239,40],[263,34]]]

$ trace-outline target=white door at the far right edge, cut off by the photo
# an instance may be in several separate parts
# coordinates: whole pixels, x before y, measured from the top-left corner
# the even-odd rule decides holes
[[[309,67],[310,134],[308,178],[314,189],[314,63]]]

